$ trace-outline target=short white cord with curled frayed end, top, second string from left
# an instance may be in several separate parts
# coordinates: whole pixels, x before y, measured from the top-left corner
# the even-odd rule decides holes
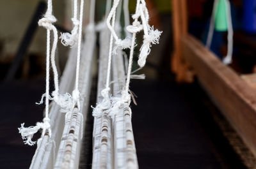
[[[60,39],[61,39],[61,43],[64,46],[70,46],[73,47],[78,40],[78,29],[79,29],[79,20],[77,20],[77,0],[73,0],[74,1],[74,17],[71,18],[72,22],[73,22],[73,29],[70,33],[61,33]]]

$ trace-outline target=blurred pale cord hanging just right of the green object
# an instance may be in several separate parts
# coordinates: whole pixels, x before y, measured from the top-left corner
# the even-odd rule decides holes
[[[227,7],[227,25],[228,25],[228,51],[227,56],[224,57],[223,63],[230,64],[232,62],[232,52],[233,52],[233,26],[232,26],[232,15],[230,10],[230,1],[226,0]]]

